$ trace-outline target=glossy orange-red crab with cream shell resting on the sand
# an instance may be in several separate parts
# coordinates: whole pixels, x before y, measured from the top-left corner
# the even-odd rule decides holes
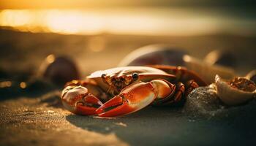
[[[205,85],[195,72],[181,66],[124,66],[67,82],[61,101],[75,114],[111,118],[149,104],[182,105],[193,89]]]

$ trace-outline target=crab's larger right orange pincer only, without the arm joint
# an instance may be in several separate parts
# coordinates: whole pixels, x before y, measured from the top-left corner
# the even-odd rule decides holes
[[[117,117],[136,112],[157,98],[152,82],[136,82],[97,109],[99,117]]]

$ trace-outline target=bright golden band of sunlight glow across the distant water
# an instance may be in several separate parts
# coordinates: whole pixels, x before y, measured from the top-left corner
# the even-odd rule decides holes
[[[0,26],[19,31],[60,34],[146,34],[195,35],[216,32],[250,33],[255,22],[210,18],[179,9],[101,9],[101,10],[12,10],[0,12]],[[230,25],[234,24],[234,25]],[[231,27],[232,26],[232,27]],[[238,28],[240,27],[240,28]]]

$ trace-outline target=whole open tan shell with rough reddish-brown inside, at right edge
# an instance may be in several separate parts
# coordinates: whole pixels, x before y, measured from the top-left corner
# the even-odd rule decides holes
[[[234,88],[237,84],[243,86],[243,90]],[[236,77],[231,82],[223,80],[219,75],[215,77],[217,95],[227,105],[243,104],[256,97],[256,85],[246,77]]]

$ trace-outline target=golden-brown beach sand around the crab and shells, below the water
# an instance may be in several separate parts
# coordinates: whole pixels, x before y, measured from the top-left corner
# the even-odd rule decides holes
[[[110,34],[89,37],[1,30],[0,38],[1,81],[28,80],[50,53],[71,56],[85,76],[97,69],[116,66],[133,49],[154,43],[173,44],[199,58],[216,48],[229,49],[245,54],[239,57],[242,60],[238,66],[240,72],[248,72],[255,66],[255,37],[132,37]],[[91,45],[94,46],[93,42],[102,43],[104,49],[90,49]],[[241,65],[244,62],[246,66]],[[255,101],[222,110],[216,115],[195,116],[198,110],[184,112],[185,107],[147,107],[123,118],[99,119],[69,113],[60,103],[59,88],[42,85],[25,90],[18,87],[1,88],[0,145],[256,143]]]

